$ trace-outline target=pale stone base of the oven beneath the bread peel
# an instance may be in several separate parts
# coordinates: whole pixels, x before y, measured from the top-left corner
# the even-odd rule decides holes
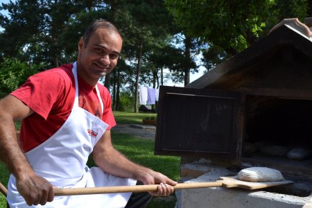
[[[191,168],[188,165],[187,168]],[[220,176],[236,175],[232,171],[218,166],[207,166],[207,164],[196,164],[193,168],[205,170],[208,173],[201,175],[186,182],[209,182],[216,181]],[[183,169],[183,167],[182,167]],[[223,207],[305,207],[310,208],[309,200],[312,200],[312,195],[309,196],[293,196],[283,193],[269,192],[264,189],[245,190],[245,189],[227,189],[223,187],[211,187],[204,189],[182,189],[177,191],[177,206],[178,208],[223,208]]]

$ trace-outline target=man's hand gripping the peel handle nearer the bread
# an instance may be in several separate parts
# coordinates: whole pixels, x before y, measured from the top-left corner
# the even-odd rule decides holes
[[[169,196],[174,191],[172,186],[177,184],[177,182],[166,177],[166,175],[153,170],[140,172],[137,175],[137,179],[144,184],[159,184],[157,191],[149,192],[153,196]]]

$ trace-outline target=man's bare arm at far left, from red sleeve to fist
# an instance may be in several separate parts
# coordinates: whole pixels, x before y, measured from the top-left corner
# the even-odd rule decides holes
[[[17,140],[15,121],[33,114],[33,110],[15,96],[0,100],[0,159],[16,177],[17,191],[28,205],[45,205],[53,200],[53,187],[43,177],[37,176]]]

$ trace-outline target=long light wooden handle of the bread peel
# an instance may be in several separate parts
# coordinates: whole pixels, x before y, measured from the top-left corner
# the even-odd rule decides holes
[[[87,187],[87,188],[54,188],[54,196],[73,196],[99,193],[125,193],[125,192],[146,192],[157,191],[158,185],[138,185],[121,187]],[[222,182],[200,182],[200,183],[182,183],[176,184],[174,189],[197,189],[207,187],[222,187]]]

